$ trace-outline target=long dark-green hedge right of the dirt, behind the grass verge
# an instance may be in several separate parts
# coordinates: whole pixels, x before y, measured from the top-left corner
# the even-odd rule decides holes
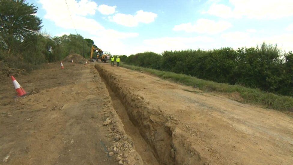
[[[164,51],[162,55],[145,52],[129,56],[125,63],[293,95],[293,53],[284,53],[276,45]]]

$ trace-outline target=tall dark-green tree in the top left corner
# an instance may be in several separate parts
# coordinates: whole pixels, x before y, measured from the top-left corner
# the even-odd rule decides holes
[[[41,29],[41,19],[35,14],[37,7],[25,0],[0,0],[1,48],[17,51],[19,44]]]

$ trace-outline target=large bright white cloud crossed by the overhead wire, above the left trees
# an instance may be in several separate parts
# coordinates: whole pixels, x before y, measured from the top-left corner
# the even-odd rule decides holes
[[[67,0],[68,8],[70,9],[72,20],[68,12],[65,1],[59,0],[40,0],[42,8],[46,11],[44,19],[53,21],[56,26],[64,29],[77,29],[77,32],[85,32],[85,38],[91,38],[98,47],[102,50],[110,51],[113,53],[127,53],[125,45],[121,41],[125,38],[137,37],[138,33],[132,32],[118,32],[113,29],[105,29],[100,23],[94,19],[89,19],[86,15],[95,14],[97,5],[93,1],[81,0]],[[56,36],[69,35],[68,32],[56,34]],[[116,51],[116,52],[115,52]],[[112,53],[112,52],[111,52]]]

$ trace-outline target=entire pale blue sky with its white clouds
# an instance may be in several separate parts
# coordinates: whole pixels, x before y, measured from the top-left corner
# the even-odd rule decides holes
[[[293,51],[292,0],[28,0],[51,36],[78,34],[104,51],[254,47]],[[70,15],[72,20],[70,18]]]

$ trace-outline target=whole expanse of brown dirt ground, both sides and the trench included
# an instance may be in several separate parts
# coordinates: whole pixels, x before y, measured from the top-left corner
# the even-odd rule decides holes
[[[64,66],[16,77],[22,98],[1,79],[1,164],[293,163],[290,115],[108,63]]]

